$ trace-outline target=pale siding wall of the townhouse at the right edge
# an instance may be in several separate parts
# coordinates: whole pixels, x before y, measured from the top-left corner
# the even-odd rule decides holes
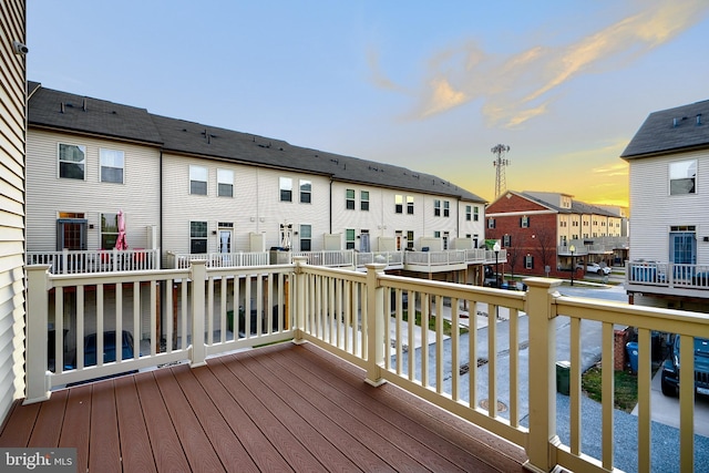
[[[697,160],[697,193],[669,195],[669,164]],[[630,260],[667,263],[669,230],[675,225],[697,228],[697,264],[709,264],[709,151],[634,158],[630,163]]]

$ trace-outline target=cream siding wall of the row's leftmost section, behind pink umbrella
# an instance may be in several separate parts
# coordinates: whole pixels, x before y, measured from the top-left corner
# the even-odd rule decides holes
[[[59,144],[86,147],[85,178],[60,178]],[[100,181],[100,148],[124,153],[123,184]],[[60,212],[83,213],[89,220],[86,249],[101,246],[101,214],[125,215],[130,248],[147,248],[148,226],[160,229],[160,151],[154,146],[30,128],[28,133],[27,238],[30,251],[56,250]],[[51,191],[50,191],[51,189]]]

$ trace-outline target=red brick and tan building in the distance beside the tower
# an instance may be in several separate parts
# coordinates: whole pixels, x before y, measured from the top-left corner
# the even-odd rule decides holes
[[[485,220],[513,275],[568,277],[572,268],[619,265],[627,255],[623,218],[568,194],[508,191],[487,206]]]

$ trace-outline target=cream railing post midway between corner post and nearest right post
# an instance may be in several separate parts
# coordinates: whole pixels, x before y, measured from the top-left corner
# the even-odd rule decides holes
[[[388,333],[384,333],[384,288],[379,285],[379,276],[384,274],[386,264],[367,265],[367,379],[371,385],[386,382],[381,377],[384,363],[384,347]]]

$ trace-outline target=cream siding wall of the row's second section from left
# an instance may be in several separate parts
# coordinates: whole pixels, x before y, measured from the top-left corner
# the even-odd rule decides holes
[[[207,222],[207,250],[217,253],[219,223],[234,225],[233,251],[249,251],[249,234],[264,233],[266,249],[280,246],[280,224],[312,226],[312,250],[322,249],[329,233],[329,178],[288,171],[217,162],[165,153],[164,156],[165,250],[189,253],[189,222]],[[207,195],[189,194],[189,166],[207,168]],[[217,195],[217,169],[234,171],[234,197]],[[279,178],[292,182],[292,200],[280,202]],[[311,183],[311,202],[300,203],[299,185]],[[214,234],[217,232],[217,234]],[[298,248],[294,236],[294,249]]]

